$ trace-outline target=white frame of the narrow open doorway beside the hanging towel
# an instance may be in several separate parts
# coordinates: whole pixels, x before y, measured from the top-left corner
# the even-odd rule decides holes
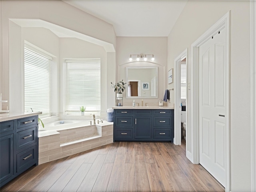
[[[176,107],[176,110],[174,110],[174,139],[173,143],[175,145],[181,145],[181,117],[180,117],[180,68],[179,64],[180,62],[186,58],[186,68],[188,68],[188,49],[184,50],[176,59],[174,60],[174,106]],[[187,76],[188,72],[186,72]],[[186,83],[188,83],[188,78],[186,79]],[[188,92],[186,92],[186,98],[188,98]],[[186,107],[187,107],[187,101],[186,99]],[[187,112],[186,112],[187,113]],[[186,115],[186,122],[188,122],[188,116]],[[187,148],[187,145],[186,145]],[[187,151],[187,150],[186,150]]]

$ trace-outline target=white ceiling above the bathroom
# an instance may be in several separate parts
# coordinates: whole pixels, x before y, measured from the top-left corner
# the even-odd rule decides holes
[[[114,26],[116,36],[168,36],[187,0],[63,0]]]

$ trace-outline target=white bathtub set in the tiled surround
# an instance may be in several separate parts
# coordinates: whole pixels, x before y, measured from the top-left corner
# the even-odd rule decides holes
[[[60,130],[66,130],[66,129],[72,129],[72,128],[80,128],[84,126],[89,126],[90,122],[91,121],[88,121],[88,120],[58,120],[58,121],[44,124],[44,128],[42,127],[42,125],[40,125],[39,131],[42,131],[42,130],[60,131]]]

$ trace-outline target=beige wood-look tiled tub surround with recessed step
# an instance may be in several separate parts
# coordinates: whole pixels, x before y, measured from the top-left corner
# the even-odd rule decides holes
[[[46,127],[47,129],[47,127]],[[50,162],[113,142],[113,122],[65,130],[39,130],[38,164]]]

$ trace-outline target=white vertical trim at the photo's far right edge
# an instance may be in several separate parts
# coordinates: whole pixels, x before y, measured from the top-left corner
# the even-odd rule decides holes
[[[250,1],[251,46],[251,191],[256,191],[256,2]]]

